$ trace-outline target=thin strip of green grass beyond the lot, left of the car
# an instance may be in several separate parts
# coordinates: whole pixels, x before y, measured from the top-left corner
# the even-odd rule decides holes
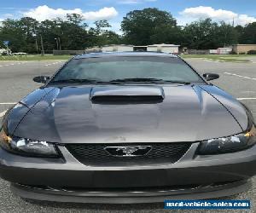
[[[68,60],[73,55],[0,55],[0,60]]]

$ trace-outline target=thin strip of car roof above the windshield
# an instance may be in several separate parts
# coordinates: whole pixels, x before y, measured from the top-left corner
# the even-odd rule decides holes
[[[73,59],[84,59],[84,58],[100,58],[100,57],[129,57],[129,56],[153,56],[153,57],[172,57],[177,58],[176,55],[167,54],[167,53],[158,53],[158,52],[101,52],[101,53],[90,53],[90,54],[84,54],[84,55],[76,55]]]

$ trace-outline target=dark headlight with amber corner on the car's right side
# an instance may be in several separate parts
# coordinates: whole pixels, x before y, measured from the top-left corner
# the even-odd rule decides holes
[[[233,153],[252,147],[255,143],[256,128],[253,125],[252,129],[246,133],[202,141],[198,148],[198,154]]]

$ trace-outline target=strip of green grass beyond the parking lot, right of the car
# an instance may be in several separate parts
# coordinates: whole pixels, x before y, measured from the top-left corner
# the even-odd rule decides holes
[[[184,59],[201,58],[219,62],[251,62],[247,57],[256,57],[256,55],[182,55]],[[246,57],[246,59],[244,58]]]

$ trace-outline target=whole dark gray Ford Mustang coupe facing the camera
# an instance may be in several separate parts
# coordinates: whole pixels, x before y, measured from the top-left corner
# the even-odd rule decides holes
[[[26,199],[143,203],[241,193],[256,173],[252,113],[161,53],[75,56],[9,109],[0,175]]]

